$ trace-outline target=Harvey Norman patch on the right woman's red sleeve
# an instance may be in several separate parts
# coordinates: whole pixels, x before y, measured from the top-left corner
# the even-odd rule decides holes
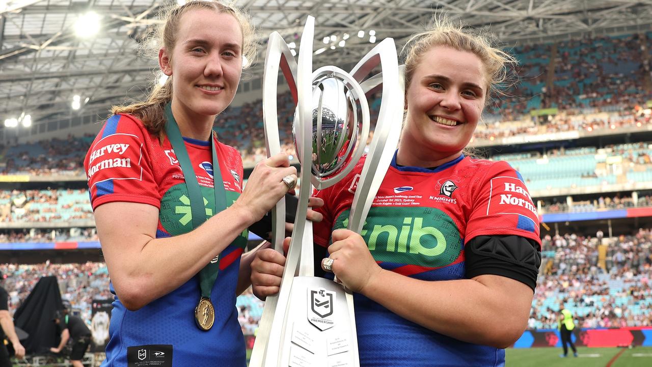
[[[499,176],[491,180],[487,215],[518,214],[538,223],[539,214],[524,183],[518,178]]]

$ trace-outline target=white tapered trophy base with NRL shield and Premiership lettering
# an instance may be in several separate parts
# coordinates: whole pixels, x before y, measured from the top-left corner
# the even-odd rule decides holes
[[[279,366],[356,367],[355,321],[348,310],[342,285],[323,278],[294,278]]]

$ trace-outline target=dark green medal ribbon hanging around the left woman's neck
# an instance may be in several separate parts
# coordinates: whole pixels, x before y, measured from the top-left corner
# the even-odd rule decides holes
[[[192,213],[192,228],[196,229],[201,223],[206,221],[206,210],[204,206],[204,198],[201,195],[200,184],[197,182],[195,171],[190,162],[186,144],[181,137],[179,125],[172,115],[171,103],[165,107],[166,124],[165,130],[172,144],[172,149],[177,155],[177,161],[181,165],[181,171],[186,180],[186,188],[188,189],[188,196],[190,197],[190,211]],[[213,191],[215,193],[215,211],[214,215],[226,209],[226,191],[224,190],[224,182],[222,182],[222,174],[220,172],[220,162],[217,160],[217,153],[215,147],[215,139],[211,131],[211,152],[213,153]],[[217,261],[207,264],[200,271],[200,288],[201,298],[211,299],[211,290],[217,279],[217,273],[220,270],[220,260],[222,253],[218,256]]]

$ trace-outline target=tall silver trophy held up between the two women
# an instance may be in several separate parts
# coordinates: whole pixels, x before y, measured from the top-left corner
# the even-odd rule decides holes
[[[360,232],[391,163],[400,135],[404,85],[393,39],[379,42],[349,73],[334,66],[312,71],[314,18],[301,35],[299,59],[274,32],[263,76],[263,121],[269,156],[280,152],[276,85],[282,70],[297,102],[293,124],[301,162],[297,218],[278,295],[268,296],[249,366],[359,366],[353,295],[340,283],[314,276],[312,223],[306,221],[311,187],[325,189],[349,174],[369,136],[366,93],[382,88],[382,101],[351,204],[348,229]],[[381,73],[366,78],[376,67]],[[274,249],[282,252],[285,201],[273,211]],[[300,219],[301,218],[301,219]]]

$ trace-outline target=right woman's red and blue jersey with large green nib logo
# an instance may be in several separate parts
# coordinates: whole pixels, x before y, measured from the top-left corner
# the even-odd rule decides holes
[[[364,157],[342,181],[317,191],[324,216],[315,242],[346,228]],[[508,163],[462,155],[440,167],[399,167],[396,155],[366,217],[363,236],[385,270],[426,281],[465,279],[464,246],[476,236],[517,235],[539,242],[539,216]],[[505,351],[421,327],[355,294],[361,366],[502,366]],[[441,300],[446,302],[446,300]]]

